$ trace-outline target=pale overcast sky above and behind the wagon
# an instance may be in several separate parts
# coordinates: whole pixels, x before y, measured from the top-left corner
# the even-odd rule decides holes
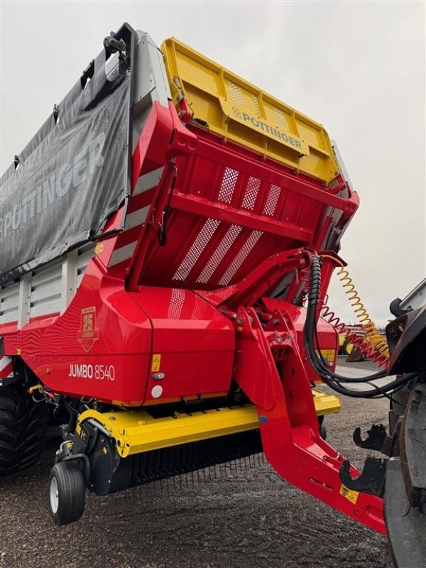
[[[426,273],[424,2],[1,1],[1,173],[128,21],[322,124],[361,207],[342,242],[373,319]],[[339,285],[329,304],[354,320]]]

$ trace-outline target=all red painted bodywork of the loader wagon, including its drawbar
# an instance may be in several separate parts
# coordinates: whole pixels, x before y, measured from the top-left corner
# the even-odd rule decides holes
[[[160,182],[138,191],[141,176],[158,168]],[[340,176],[323,187],[185,127],[172,104],[155,104],[148,117],[132,187],[127,214],[145,207],[145,221],[111,236],[124,206],[116,212],[65,313],[21,330],[0,326],[4,354],[20,355],[55,393],[118,405],[226,393],[234,379],[258,408],[278,473],[384,532],[381,499],[360,493],[354,505],[339,493],[343,458],[320,437],[310,390],[318,377],[302,345],[305,251],[321,251],[333,224],[344,229],[356,194]],[[113,262],[129,245],[133,252]],[[324,257],[321,300],[334,254]],[[319,332],[322,349],[337,352],[335,330],[322,322]]]

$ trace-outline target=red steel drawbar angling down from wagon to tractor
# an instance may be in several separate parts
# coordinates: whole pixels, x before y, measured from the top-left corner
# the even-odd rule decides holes
[[[239,309],[236,326],[241,356],[234,377],[257,405],[266,458],[293,485],[386,534],[381,498],[359,493],[351,501],[341,491],[344,458],[320,436],[310,379],[289,317],[293,305],[280,303],[273,312],[275,324],[263,327],[250,307]],[[357,473],[351,469],[352,476]]]

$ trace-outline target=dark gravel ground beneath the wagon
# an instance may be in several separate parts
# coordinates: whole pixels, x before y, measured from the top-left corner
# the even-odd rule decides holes
[[[343,398],[340,415],[327,418],[329,442],[361,466],[354,427],[386,422],[387,410],[384,400]],[[57,447],[51,435],[37,466],[0,481],[0,568],[385,567],[383,537],[290,486],[259,457],[247,470],[222,466],[222,479],[194,474],[181,485],[89,495],[83,518],[58,528],[46,505]]]

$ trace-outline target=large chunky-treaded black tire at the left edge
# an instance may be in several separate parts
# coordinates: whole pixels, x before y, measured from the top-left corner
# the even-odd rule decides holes
[[[21,385],[0,388],[0,477],[26,469],[43,452],[48,405],[35,403]]]

